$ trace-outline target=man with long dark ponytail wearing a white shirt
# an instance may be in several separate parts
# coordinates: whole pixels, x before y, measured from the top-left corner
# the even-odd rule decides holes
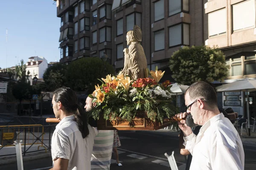
[[[70,88],[53,92],[52,108],[60,120],[52,134],[51,170],[90,170],[96,131],[87,124],[87,115],[77,104],[76,93]]]

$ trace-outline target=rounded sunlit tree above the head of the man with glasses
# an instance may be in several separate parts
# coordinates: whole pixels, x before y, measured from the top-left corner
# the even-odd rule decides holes
[[[227,77],[225,56],[218,48],[184,46],[170,59],[172,77],[179,84],[191,85],[198,81],[212,82]]]

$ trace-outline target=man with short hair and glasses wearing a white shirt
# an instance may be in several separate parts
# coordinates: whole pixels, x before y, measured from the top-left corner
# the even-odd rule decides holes
[[[185,92],[187,113],[202,125],[196,136],[185,120],[178,122],[185,149],[192,154],[190,170],[244,170],[244,149],[233,124],[219,112],[217,94],[207,82],[196,82]],[[186,112],[180,113],[186,117]]]

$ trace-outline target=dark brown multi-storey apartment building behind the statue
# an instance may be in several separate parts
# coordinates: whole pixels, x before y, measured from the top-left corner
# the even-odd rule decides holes
[[[202,45],[208,38],[207,0],[57,0],[61,18],[60,62],[102,57],[119,71],[124,65],[126,32],[134,24],[143,32],[148,67],[166,71],[172,53],[183,45]]]

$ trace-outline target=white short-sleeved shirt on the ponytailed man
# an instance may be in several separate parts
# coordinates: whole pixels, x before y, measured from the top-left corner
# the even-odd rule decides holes
[[[52,161],[56,158],[69,159],[68,170],[90,170],[97,132],[90,125],[88,128],[89,135],[83,139],[73,115],[62,119],[52,134]]]

